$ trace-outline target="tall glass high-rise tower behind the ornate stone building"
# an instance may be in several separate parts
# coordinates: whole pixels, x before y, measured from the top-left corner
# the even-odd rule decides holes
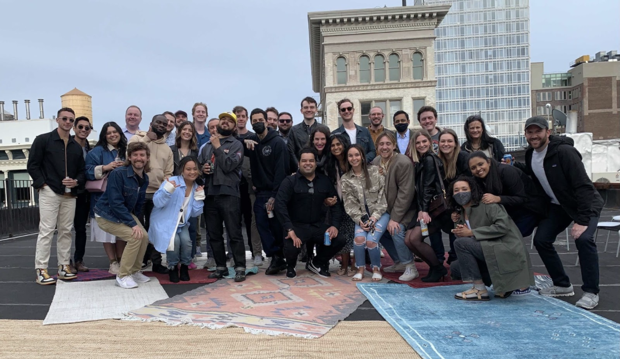
[[[464,139],[463,123],[481,115],[504,146],[526,144],[531,114],[529,0],[416,0],[452,4],[435,30],[436,108],[440,126]]]

